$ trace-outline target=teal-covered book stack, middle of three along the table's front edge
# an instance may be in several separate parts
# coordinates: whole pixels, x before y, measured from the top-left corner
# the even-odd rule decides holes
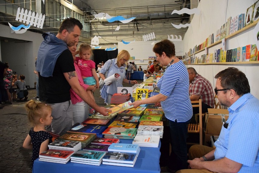
[[[71,155],[71,160],[81,160],[81,161],[102,161],[105,152],[103,151],[93,151],[93,150],[78,150]]]

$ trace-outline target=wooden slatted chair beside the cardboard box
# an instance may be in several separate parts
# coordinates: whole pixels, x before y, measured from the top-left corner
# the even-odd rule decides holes
[[[202,145],[202,99],[191,101],[191,103],[192,107],[199,107],[199,122],[197,124],[188,124],[188,133],[199,133],[199,144]]]

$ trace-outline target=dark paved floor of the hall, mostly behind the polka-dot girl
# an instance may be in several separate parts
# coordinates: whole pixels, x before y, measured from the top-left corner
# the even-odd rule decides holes
[[[141,83],[142,81],[138,81]],[[125,87],[131,85],[123,84]],[[99,106],[106,105],[100,98],[100,90],[95,92],[95,102]],[[28,100],[36,96],[36,89],[28,90]],[[36,100],[36,99],[34,99]],[[9,102],[0,105],[0,172],[32,172],[32,151],[22,147],[30,125],[25,111],[26,102]]]

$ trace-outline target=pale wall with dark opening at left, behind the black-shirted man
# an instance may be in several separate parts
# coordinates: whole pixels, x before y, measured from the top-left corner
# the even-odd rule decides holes
[[[8,62],[9,68],[16,71],[18,76],[23,74],[25,76],[26,85],[34,88],[36,82],[36,75],[33,73],[35,69],[35,58],[38,54],[40,43],[43,37],[39,33],[26,31],[23,34],[11,33],[9,26],[0,24],[0,36],[7,38],[15,38],[23,41],[1,42],[0,59],[2,62]]]

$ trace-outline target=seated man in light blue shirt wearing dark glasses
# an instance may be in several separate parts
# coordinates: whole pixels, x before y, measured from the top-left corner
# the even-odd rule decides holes
[[[193,145],[190,168],[177,173],[259,172],[259,100],[250,94],[246,75],[235,67],[216,74],[219,104],[229,118],[222,125],[216,149]]]

